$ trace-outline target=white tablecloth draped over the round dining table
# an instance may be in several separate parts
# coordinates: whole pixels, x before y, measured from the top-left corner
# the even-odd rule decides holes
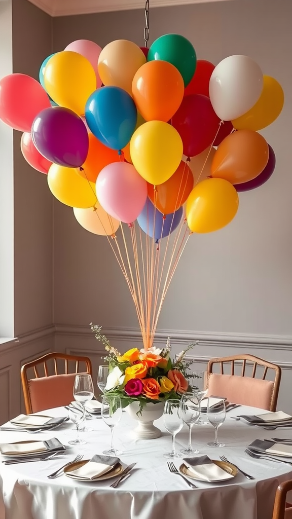
[[[63,408],[52,409],[48,414],[64,416]],[[110,429],[101,418],[90,420],[94,432],[81,433],[87,444],[69,446],[62,458],[50,461],[21,463],[5,466],[0,463],[1,519],[271,519],[275,490],[279,482],[292,478],[292,466],[268,460],[252,459],[244,454],[245,447],[254,439],[272,436],[289,438],[289,429],[266,431],[247,425],[243,420],[230,417],[236,414],[258,414],[259,409],[240,407],[227,414],[219,428],[219,440],[225,447],[211,448],[207,442],[214,439],[211,425],[194,426],[193,446],[212,459],[224,454],[229,461],[256,477],[249,481],[241,473],[224,484],[194,482],[191,489],[181,477],[171,474],[163,453],[171,450],[171,437],[165,431],[163,420],[155,425],[163,431],[156,440],[135,440],[135,428],[126,412],[115,428],[115,447],[123,450],[121,460],[126,465],[136,461],[131,475],[117,489],[110,488],[112,480],[100,483],[82,483],[62,474],[55,480],[47,475],[65,462],[82,453],[84,459],[102,453],[110,444]],[[76,434],[70,422],[58,429],[41,434],[0,432],[0,443],[58,438],[68,445]],[[281,431],[281,434],[279,434]],[[177,435],[176,446],[187,445],[188,429]],[[181,460],[175,460],[179,467]]]

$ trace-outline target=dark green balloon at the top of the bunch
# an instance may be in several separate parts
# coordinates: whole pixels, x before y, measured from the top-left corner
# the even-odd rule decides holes
[[[184,86],[192,79],[196,70],[196,51],[191,42],[180,34],[165,34],[151,45],[147,61],[168,61],[181,73]]]

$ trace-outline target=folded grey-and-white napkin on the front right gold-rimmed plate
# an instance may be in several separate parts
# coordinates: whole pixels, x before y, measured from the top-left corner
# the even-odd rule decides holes
[[[188,467],[192,475],[203,481],[223,481],[229,480],[230,473],[215,465],[208,456],[198,458],[183,458],[184,465]]]

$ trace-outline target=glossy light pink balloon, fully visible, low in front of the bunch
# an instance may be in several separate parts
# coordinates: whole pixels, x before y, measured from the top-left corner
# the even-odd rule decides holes
[[[107,213],[129,224],[136,220],[145,205],[147,182],[128,162],[113,162],[99,173],[96,196]]]

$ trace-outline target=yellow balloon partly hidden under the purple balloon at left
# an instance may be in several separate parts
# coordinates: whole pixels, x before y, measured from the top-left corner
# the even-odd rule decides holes
[[[47,178],[52,194],[66,206],[85,209],[95,205],[95,184],[83,179],[75,169],[53,163]]]

